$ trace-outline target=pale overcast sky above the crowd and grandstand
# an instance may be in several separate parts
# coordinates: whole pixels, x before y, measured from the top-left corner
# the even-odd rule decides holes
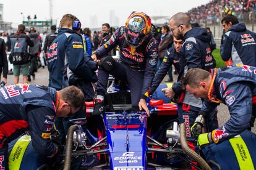
[[[210,0],[53,0],[53,19],[59,23],[62,15],[70,13],[77,16],[85,28],[92,27],[92,16],[96,15],[100,27],[101,23],[109,22],[109,11],[113,10],[121,26],[132,11],[171,17],[177,12],[187,12],[208,2]],[[33,18],[35,14],[37,20],[49,19],[48,0],[0,0],[0,3],[4,4],[3,17],[6,22],[22,23],[23,17],[27,20],[28,15]]]

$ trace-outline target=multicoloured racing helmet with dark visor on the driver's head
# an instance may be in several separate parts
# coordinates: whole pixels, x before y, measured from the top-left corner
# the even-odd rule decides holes
[[[151,30],[151,18],[143,12],[132,12],[126,20],[124,37],[130,46],[139,47]]]

